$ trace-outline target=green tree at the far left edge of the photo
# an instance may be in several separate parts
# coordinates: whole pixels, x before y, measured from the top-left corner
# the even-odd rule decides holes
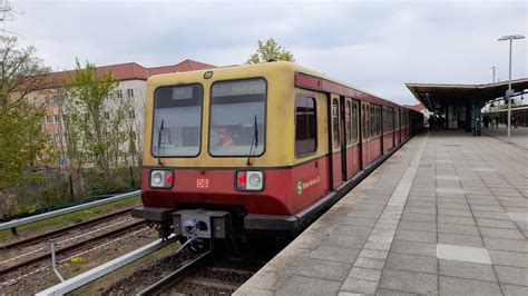
[[[45,110],[30,92],[43,85],[48,71],[33,47],[20,48],[17,37],[0,36],[0,197],[43,156]]]

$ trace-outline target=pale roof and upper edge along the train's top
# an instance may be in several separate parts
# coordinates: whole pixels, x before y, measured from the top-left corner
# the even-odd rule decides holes
[[[197,77],[202,77],[203,73],[206,71],[233,71],[233,70],[241,70],[248,68],[261,68],[262,71],[273,71],[273,70],[287,70],[291,71],[296,76],[296,86],[301,88],[312,89],[312,90],[320,90],[320,91],[331,91],[333,93],[346,96],[346,97],[355,97],[359,99],[368,100],[371,102],[378,102],[383,105],[389,105],[392,107],[399,107],[401,109],[412,110],[409,107],[395,103],[393,101],[387,100],[381,98],[380,96],[373,95],[369,91],[362,90],[358,87],[350,86],[345,82],[331,78],[330,76],[312,70],[310,68],[303,67],[299,63],[289,62],[289,61],[273,61],[273,62],[263,62],[263,63],[253,63],[253,65],[233,65],[233,66],[224,66],[217,67],[214,69],[204,69],[204,70],[196,70],[196,71],[187,71],[185,73],[164,73],[164,75],[156,75],[149,78],[157,79],[167,76],[175,76],[175,75],[196,75]],[[304,78],[304,79],[302,79]],[[302,81],[301,83],[299,83]],[[326,88],[327,87],[327,88]]]

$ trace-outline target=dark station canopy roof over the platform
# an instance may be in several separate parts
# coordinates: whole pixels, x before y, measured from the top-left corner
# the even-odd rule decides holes
[[[431,111],[450,105],[485,106],[488,101],[505,97],[508,90],[508,81],[489,85],[405,83],[405,86]],[[511,80],[511,89],[514,93],[524,92],[528,89],[528,78]]]

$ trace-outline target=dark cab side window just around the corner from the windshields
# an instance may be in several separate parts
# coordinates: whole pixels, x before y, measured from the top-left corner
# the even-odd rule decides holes
[[[304,96],[295,98],[295,154],[315,152],[317,149],[317,116],[315,99]]]

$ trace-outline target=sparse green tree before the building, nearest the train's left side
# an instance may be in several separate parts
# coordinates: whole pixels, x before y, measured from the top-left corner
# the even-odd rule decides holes
[[[114,98],[118,80],[110,71],[97,72],[94,63],[76,69],[65,86],[66,151],[74,176],[89,165],[101,180],[101,190],[111,188],[110,168],[125,157],[121,146],[127,132],[121,128],[126,108]]]

